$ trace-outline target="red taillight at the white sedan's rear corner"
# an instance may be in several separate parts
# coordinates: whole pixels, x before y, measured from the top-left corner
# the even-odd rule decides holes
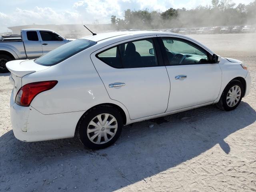
[[[30,106],[32,100],[39,93],[52,89],[58,81],[40,81],[28,83],[20,88],[18,91],[15,103],[20,106]]]

